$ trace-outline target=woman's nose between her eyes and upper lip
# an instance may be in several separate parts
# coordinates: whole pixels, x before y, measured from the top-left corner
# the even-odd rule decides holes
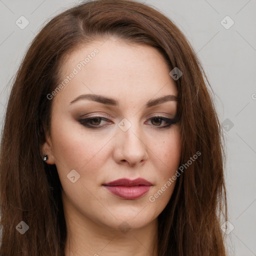
[[[134,123],[126,131],[119,129],[115,135],[114,160],[131,166],[145,162],[148,148],[142,135],[141,127]]]

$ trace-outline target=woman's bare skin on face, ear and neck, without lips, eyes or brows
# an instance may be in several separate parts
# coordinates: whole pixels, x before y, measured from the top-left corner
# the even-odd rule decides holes
[[[156,114],[173,118],[177,101],[150,108],[144,105],[149,99],[177,96],[175,82],[157,49],[113,37],[68,55],[61,68],[63,79],[95,48],[99,52],[51,99],[51,130],[42,145],[47,163],[56,165],[62,184],[65,256],[156,256],[157,216],[169,201],[175,182],[154,202],[149,196],[178,169],[181,143],[178,124],[160,129],[167,123],[150,119]],[[86,93],[115,98],[119,105],[88,99],[69,104]],[[108,119],[90,122],[104,127],[88,128],[78,121],[92,114]],[[126,131],[118,126],[123,118],[131,123]],[[72,169],[80,175],[74,183],[67,178]],[[102,186],[115,179],[137,177],[152,183],[137,199],[117,197]],[[127,232],[120,228],[123,221]]]

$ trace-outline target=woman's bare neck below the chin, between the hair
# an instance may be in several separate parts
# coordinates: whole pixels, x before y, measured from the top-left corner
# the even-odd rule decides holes
[[[157,256],[157,218],[141,228],[126,230],[96,223],[75,210],[65,212],[65,221],[65,256]]]

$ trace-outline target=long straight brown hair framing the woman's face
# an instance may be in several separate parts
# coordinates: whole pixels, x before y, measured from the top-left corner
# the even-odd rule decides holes
[[[44,163],[40,152],[50,129],[52,100],[46,95],[60,82],[64,56],[110,35],[127,43],[151,45],[160,50],[170,70],[178,67],[182,71],[175,81],[180,165],[195,152],[201,153],[177,177],[173,194],[158,216],[158,255],[226,255],[220,228],[227,220],[225,154],[211,87],[177,26],[154,7],[132,0],[87,1],[65,10],[40,30],[22,59],[10,92],[0,147],[0,254],[64,255],[61,184],[56,166]],[[16,228],[20,221],[29,227],[24,234]]]

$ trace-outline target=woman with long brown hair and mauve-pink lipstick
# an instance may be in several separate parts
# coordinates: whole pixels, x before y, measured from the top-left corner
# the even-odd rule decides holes
[[[8,100],[0,254],[226,255],[206,82],[181,31],[146,4],[94,0],[50,20]]]

